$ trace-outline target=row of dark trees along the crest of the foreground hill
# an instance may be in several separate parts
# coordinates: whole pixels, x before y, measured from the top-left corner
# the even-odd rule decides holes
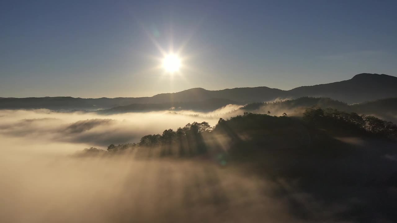
[[[188,123],[179,127],[176,131],[166,129],[163,133],[143,136],[138,143],[110,144],[107,152],[125,151],[131,148],[162,148],[162,155],[197,155],[204,154],[208,150],[204,138],[210,138],[216,134],[227,135],[232,140],[238,140],[240,133],[251,135],[253,140],[262,138],[278,138],[281,143],[283,138],[293,138],[286,134],[298,135],[302,126],[312,126],[316,129],[326,129],[330,134],[354,134],[364,137],[397,138],[397,126],[389,121],[384,121],[370,115],[358,115],[355,112],[341,112],[334,108],[322,109],[319,106],[307,108],[303,118],[257,114],[245,112],[230,119],[220,118],[218,123],[211,127],[208,122]],[[280,131],[288,129],[288,131]],[[296,133],[292,133],[295,131]],[[266,137],[265,137],[266,135]],[[253,136],[256,136],[253,137]],[[298,137],[298,136],[296,136]],[[98,152],[97,148],[89,148],[86,151]]]

